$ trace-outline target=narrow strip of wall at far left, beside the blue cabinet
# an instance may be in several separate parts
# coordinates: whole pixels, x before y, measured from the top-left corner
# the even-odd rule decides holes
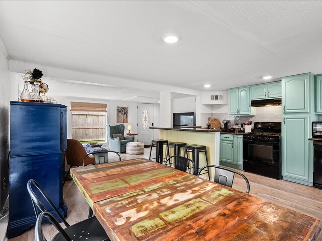
[[[0,210],[3,209],[9,194],[8,186],[4,189],[2,180],[9,180],[7,157],[9,154],[9,110],[10,110],[10,78],[7,51],[0,39]],[[7,202],[6,202],[7,205]],[[0,218],[0,240],[5,240],[8,215]]]

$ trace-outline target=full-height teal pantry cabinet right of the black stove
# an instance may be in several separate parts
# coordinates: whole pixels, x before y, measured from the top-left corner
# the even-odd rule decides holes
[[[313,184],[309,138],[317,119],[315,87],[311,73],[282,78],[282,175],[308,186]]]

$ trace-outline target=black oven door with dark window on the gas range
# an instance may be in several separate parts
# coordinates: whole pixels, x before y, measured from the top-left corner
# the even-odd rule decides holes
[[[243,140],[243,160],[280,167],[280,143]]]

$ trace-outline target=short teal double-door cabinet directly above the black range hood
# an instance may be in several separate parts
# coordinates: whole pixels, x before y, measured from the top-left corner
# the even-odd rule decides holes
[[[281,81],[251,86],[251,100],[280,98],[281,96],[282,96]]]

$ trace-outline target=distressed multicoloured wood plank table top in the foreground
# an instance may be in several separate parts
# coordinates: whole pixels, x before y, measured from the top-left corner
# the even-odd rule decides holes
[[[111,240],[314,240],[317,218],[146,159],[71,169]]]

